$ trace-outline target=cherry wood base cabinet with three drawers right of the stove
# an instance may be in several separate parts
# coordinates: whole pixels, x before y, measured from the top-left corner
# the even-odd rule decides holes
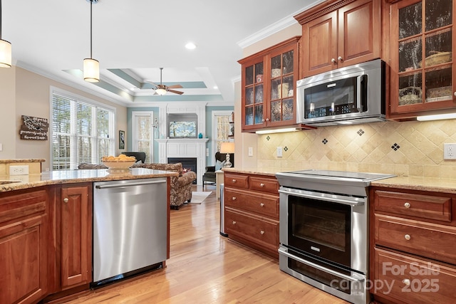
[[[456,298],[456,195],[371,187],[371,290],[378,303]],[[388,288],[390,286],[390,288]]]

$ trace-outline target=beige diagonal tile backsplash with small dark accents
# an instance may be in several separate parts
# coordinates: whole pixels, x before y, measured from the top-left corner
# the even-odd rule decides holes
[[[259,135],[257,167],[456,178],[456,160],[443,159],[443,144],[449,142],[456,142],[456,120],[318,127]]]

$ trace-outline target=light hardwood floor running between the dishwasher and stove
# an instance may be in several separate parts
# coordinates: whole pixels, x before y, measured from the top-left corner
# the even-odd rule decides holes
[[[171,210],[166,268],[67,303],[347,303],[280,271],[278,261],[220,236],[215,187],[206,188],[212,194],[202,204]]]

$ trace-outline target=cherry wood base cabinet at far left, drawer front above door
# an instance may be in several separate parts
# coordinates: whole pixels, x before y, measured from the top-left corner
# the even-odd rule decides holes
[[[37,303],[48,293],[48,192],[0,198],[0,303]]]

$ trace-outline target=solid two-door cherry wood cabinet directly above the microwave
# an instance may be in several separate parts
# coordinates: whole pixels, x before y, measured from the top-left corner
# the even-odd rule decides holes
[[[381,1],[325,1],[295,16],[302,25],[301,78],[381,56]]]

